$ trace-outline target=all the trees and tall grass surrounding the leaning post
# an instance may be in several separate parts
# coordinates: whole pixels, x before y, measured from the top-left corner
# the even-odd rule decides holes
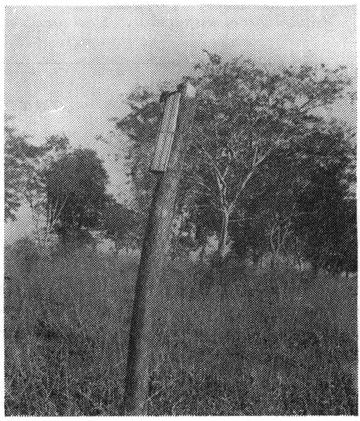
[[[351,80],[206,53],[148,413],[355,415],[355,129],[324,113]],[[7,415],[122,413],[138,257],[121,249],[142,244],[162,113],[145,89],[128,103],[113,120],[130,140],[130,205],[108,194],[95,151],[65,135],[34,146],[5,121],[5,220],[26,201],[34,222],[5,253]]]

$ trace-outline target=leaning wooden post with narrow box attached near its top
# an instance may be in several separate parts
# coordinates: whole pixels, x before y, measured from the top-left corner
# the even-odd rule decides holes
[[[157,173],[157,183],[141,252],[130,325],[124,394],[125,415],[147,413],[155,294],[162,275],[165,252],[169,247],[175,200],[188,148],[188,133],[195,113],[195,94],[196,90],[189,82],[181,85],[178,93],[170,94],[158,135],[151,168]],[[164,128],[164,124],[167,124],[167,127]],[[169,134],[169,124],[173,125],[175,130],[172,135]],[[159,150],[163,153],[159,153]]]

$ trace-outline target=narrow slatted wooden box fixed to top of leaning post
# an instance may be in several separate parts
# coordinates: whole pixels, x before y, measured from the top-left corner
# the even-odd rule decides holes
[[[152,172],[165,172],[168,167],[179,113],[180,92],[171,93],[165,102],[160,129],[156,138],[155,153],[150,166]]]

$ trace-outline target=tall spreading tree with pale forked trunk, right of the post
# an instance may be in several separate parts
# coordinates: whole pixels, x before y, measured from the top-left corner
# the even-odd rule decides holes
[[[340,98],[349,79],[324,65],[271,71],[251,60],[198,65],[202,101],[195,119],[188,176],[211,198],[221,219],[218,258],[229,251],[229,225],[241,218],[242,201],[274,153],[301,141],[321,124],[319,108]],[[286,237],[287,223],[277,218]],[[281,234],[281,237],[283,235]],[[283,243],[280,240],[279,246]],[[277,246],[274,245],[274,252]]]

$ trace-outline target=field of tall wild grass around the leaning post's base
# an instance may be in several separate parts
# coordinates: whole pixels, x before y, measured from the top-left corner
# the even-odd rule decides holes
[[[119,413],[136,268],[7,256],[7,415]],[[158,302],[150,414],[357,414],[355,278],[175,261]]]

